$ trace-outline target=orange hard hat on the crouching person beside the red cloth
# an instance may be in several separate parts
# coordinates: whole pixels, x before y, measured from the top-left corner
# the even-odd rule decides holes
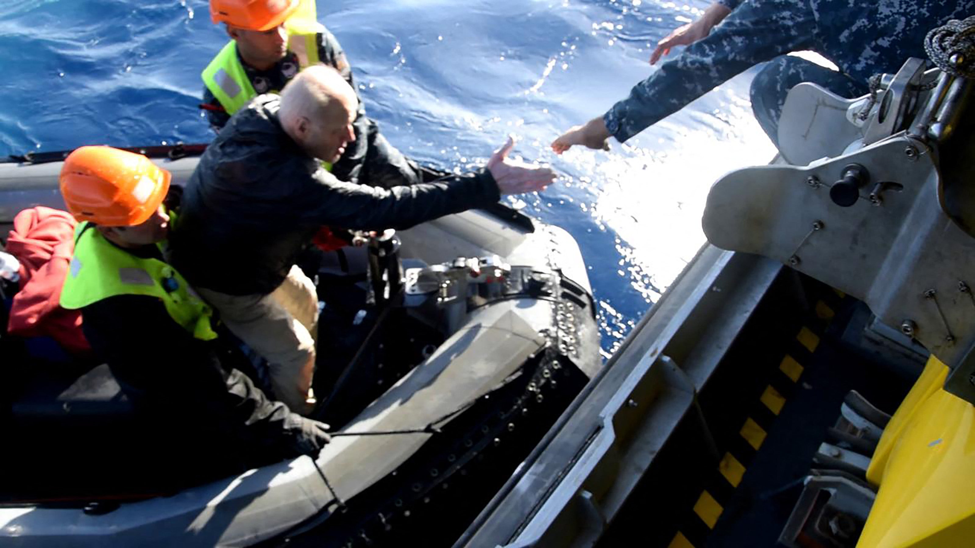
[[[135,226],[159,209],[171,177],[141,154],[110,146],[82,146],[64,159],[61,196],[78,221]]]

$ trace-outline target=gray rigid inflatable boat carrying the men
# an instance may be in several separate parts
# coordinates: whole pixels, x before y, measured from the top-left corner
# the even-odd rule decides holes
[[[183,184],[203,148],[142,151]],[[62,208],[62,156],[0,164],[0,223],[36,205]],[[155,496],[126,486],[79,494],[70,477],[49,473],[71,458],[65,448],[98,444],[129,424],[128,402],[106,366],[65,379],[38,373],[45,366],[29,357],[4,360],[27,379],[8,391],[4,415],[5,430],[20,438],[6,446],[17,463],[6,474],[22,481],[2,494],[2,543],[450,542],[602,367],[592,291],[565,230],[501,205],[395,236],[349,250],[352,260],[337,267],[322,262],[319,344],[341,351],[319,354],[342,363],[331,364],[331,392],[316,391],[328,406],[323,418],[340,428],[314,460]],[[365,257],[358,272],[357,253]],[[11,338],[2,339],[5,352],[19,343]],[[49,449],[11,456],[28,447]]]

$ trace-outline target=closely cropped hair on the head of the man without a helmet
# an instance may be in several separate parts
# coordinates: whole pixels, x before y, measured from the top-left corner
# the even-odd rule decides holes
[[[295,76],[281,92],[278,119],[286,129],[292,129],[300,118],[320,123],[332,101],[351,98],[356,93],[342,75],[331,66],[316,64]]]

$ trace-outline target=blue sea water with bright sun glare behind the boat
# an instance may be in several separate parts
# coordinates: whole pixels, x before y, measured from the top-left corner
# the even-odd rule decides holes
[[[656,41],[707,5],[320,0],[318,14],[409,156],[463,171],[514,134],[517,155],[562,174],[511,201],[579,242],[608,355],[704,242],[710,184],[773,147],[752,119],[751,73],[608,153],[548,143],[626,97],[655,69]],[[210,140],[199,75],[226,40],[206,0],[0,0],[0,155]]]

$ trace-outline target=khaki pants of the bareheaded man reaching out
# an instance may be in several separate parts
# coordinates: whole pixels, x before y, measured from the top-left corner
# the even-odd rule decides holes
[[[297,266],[271,294],[197,292],[220,313],[227,329],[268,361],[268,376],[278,400],[306,414],[315,372],[318,295],[315,285]]]

